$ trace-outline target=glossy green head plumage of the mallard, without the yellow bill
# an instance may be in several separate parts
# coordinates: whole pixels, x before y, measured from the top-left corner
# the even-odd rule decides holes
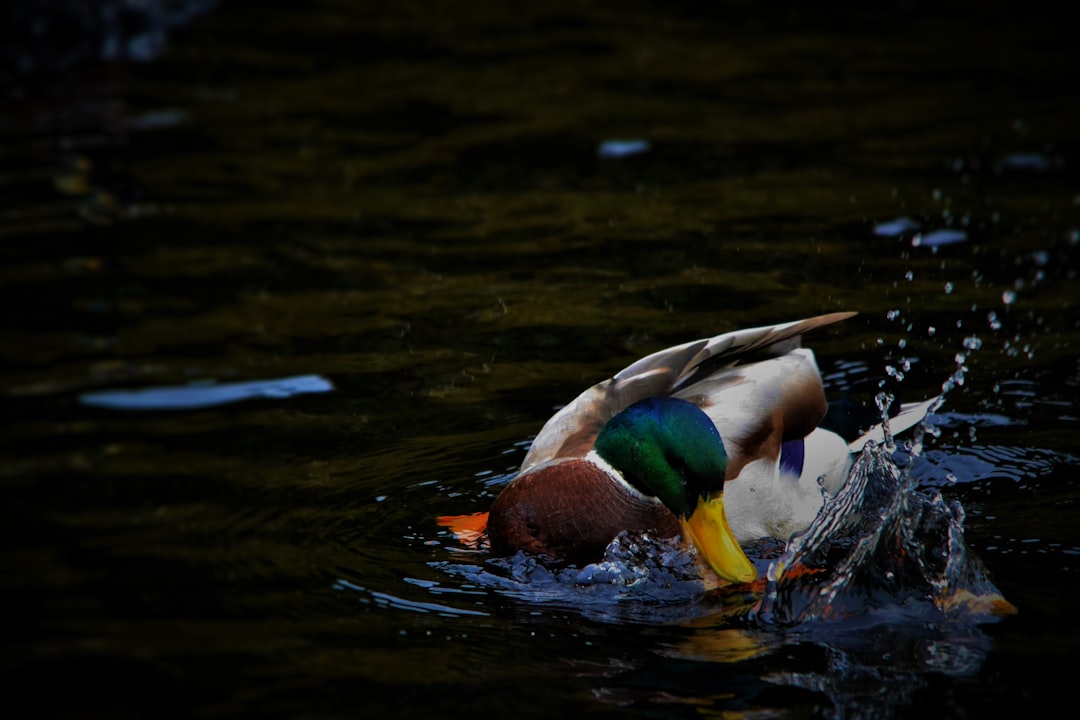
[[[604,425],[597,454],[623,479],[690,517],[699,498],[724,489],[728,454],[716,426],[701,409],[675,397],[631,405]]]

